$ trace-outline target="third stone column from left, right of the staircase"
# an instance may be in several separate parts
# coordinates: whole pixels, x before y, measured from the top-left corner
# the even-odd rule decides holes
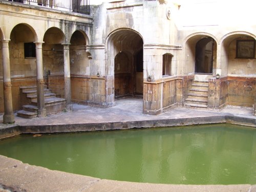
[[[64,87],[65,87],[65,99],[66,99],[66,111],[72,111],[73,106],[71,104],[71,81],[70,81],[70,59],[69,59],[69,45],[63,45],[64,55]]]

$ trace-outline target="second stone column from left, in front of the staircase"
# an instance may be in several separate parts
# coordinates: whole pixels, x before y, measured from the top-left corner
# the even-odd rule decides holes
[[[37,116],[46,117],[45,93],[44,93],[44,75],[42,70],[42,44],[35,42],[36,49],[36,83],[37,83]]]

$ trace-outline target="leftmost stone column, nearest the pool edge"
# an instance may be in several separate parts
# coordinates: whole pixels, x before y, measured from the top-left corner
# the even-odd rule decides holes
[[[3,53],[3,76],[4,76],[4,108],[3,116],[4,123],[14,123],[14,115],[12,109],[12,85],[10,72],[10,57],[9,57],[9,40],[2,40]]]

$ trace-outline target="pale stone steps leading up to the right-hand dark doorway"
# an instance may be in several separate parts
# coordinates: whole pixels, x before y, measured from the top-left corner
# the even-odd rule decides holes
[[[194,80],[185,101],[186,108],[207,109],[208,81]]]

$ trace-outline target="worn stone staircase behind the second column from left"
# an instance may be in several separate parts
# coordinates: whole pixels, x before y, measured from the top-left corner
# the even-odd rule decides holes
[[[37,91],[36,86],[20,87],[20,103],[22,110],[17,112],[17,116],[23,118],[35,118],[37,117]],[[56,114],[65,110],[66,100],[63,98],[57,98],[50,89],[45,87],[45,108],[46,114]]]

